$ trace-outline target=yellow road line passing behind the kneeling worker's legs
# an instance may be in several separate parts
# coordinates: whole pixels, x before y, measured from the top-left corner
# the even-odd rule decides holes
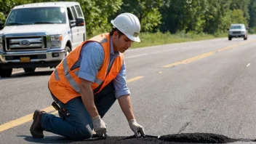
[[[136,76],[135,78],[132,79],[128,79],[127,83],[132,82],[132,81],[136,81],[138,79],[142,79],[144,76]],[[55,110],[55,108],[53,108],[52,106],[49,106],[47,108],[42,109],[42,111],[46,111],[47,113],[52,113],[52,114],[57,114],[57,111]],[[9,121],[5,124],[1,124],[0,125],[0,132],[3,132],[4,130],[10,129],[12,127],[16,127],[20,124],[24,124],[28,121],[32,121],[33,119],[33,113],[28,114],[27,116],[23,116],[19,119],[15,119],[13,121]]]

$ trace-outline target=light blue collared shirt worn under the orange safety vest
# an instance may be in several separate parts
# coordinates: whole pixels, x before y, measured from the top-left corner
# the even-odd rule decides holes
[[[113,44],[111,40],[111,59],[117,55],[119,55],[119,52],[113,52]],[[79,78],[94,82],[104,57],[105,54],[101,44],[95,41],[84,44],[80,52],[79,60],[76,63],[76,65],[80,65]],[[125,62],[121,66],[119,74],[113,79],[113,86],[116,90],[116,98],[130,94],[126,81]]]

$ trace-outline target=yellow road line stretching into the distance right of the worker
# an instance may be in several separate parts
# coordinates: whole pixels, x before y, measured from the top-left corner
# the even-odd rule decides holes
[[[195,60],[199,60],[199,59],[204,58],[204,57],[209,57],[211,55],[215,55],[216,52],[221,52],[221,51],[224,51],[224,50],[227,50],[227,49],[233,49],[235,47],[239,47],[241,45],[249,44],[249,43],[252,43],[252,42],[255,42],[255,41],[256,40],[242,42],[241,44],[234,44],[234,45],[229,46],[229,47],[224,47],[222,49],[217,49],[217,50],[212,51],[212,52],[207,52],[207,53],[205,53],[203,55],[198,55],[196,57],[191,57],[191,58],[188,58],[186,60],[182,60],[182,61],[179,61],[179,62],[171,63],[171,64],[168,64],[168,65],[164,65],[162,67],[164,67],[164,68],[171,68],[171,67],[176,66],[176,65],[191,63],[191,62],[193,62]]]

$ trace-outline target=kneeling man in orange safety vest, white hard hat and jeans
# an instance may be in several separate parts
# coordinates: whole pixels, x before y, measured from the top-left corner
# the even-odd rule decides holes
[[[145,137],[132,110],[123,54],[133,41],[140,42],[140,21],[131,13],[122,13],[111,24],[109,33],[84,41],[57,65],[48,87],[60,106],[60,117],[34,111],[30,129],[33,137],[43,138],[43,131],[47,131],[84,140],[92,137],[94,131],[98,137],[106,138],[103,116],[116,99],[135,136]]]

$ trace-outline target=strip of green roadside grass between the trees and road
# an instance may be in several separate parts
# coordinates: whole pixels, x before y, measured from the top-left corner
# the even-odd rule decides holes
[[[218,34],[217,36],[209,35],[206,33],[140,33],[140,42],[133,42],[132,49],[139,47],[150,47],[162,44],[173,44],[185,41],[201,41],[206,39],[215,39],[220,37],[228,37],[228,33]],[[88,39],[93,36],[87,36]]]

